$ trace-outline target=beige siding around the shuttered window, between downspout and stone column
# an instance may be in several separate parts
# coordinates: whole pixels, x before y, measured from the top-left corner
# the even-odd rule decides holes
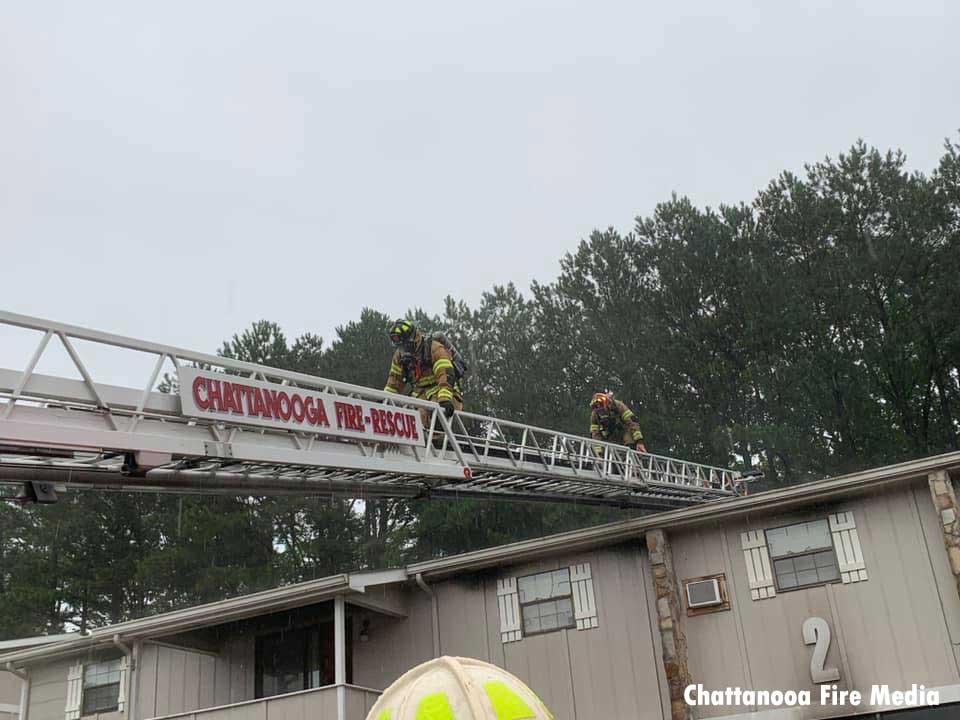
[[[529,684],[557,720],[660,720],[658,656],[638,559],[639,545],[631,543],[438,583],[441,651],[504,667]],[[497,578],[582,562],[591,565],[599,626],[502,643]]]

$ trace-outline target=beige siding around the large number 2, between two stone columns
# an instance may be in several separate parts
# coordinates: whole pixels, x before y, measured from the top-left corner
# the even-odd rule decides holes
[[[694,679],[710,688],[806,689],[816,696],[802,625],[818,616],[833,633],[826,665],[839,668],[841,688],[869,692],[872,683],[935,687],[960,681],[949,634],[960,599],[947,577],[942,540],[934,543],[936,514],[923,490],[901,487],[816,511],[674,533],[678,579],[724,572],[731,595],[730,611],[684,619]],[[854,512],[869,580],[752,601],[740,533],[841,510]],[[727,712],[701,708],[702,717]]]

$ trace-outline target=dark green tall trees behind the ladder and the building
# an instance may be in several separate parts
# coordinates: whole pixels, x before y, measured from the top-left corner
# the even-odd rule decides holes
[[[529,293],[409,315],[449,332],[467,409],[586,432],[590,394],[652,452],[782,484],[957,450],[960,145],[929,173],[860,142],[750,203],[673,196],[594,232]],[[287,338],[253,323],[226,357],[381,388],[388,321],[365,309]],[[281,583],[398,565],[623,517],[479,501],[76,493],[0,503],[0,638],[97,626]]]

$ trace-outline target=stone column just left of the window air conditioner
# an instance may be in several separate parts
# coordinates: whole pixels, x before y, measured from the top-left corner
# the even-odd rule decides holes
[[[687,667],[687,638],[680,624],[681,605],[677,578],[673,574],[673,557],[663,530],[646,534],[650,552],[653,590],[657,596],[657,625],[663,647],[663,670],[670,688],[671,720],[693,720],[693,708],[683,699],[683,691],[693,683]]]

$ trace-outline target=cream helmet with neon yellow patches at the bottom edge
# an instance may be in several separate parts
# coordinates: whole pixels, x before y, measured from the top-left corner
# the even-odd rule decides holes
[[[441,657],[383,691],[367,720],[553,720],[520,680],[480,660]]]

